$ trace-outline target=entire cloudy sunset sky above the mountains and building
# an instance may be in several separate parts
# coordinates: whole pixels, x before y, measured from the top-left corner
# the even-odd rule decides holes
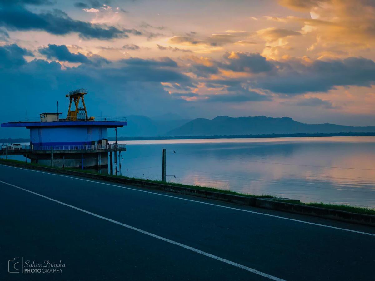
[[[0,0],[0,122],[85,88],[96,117],[375,125],[374,45],[374,0]]]

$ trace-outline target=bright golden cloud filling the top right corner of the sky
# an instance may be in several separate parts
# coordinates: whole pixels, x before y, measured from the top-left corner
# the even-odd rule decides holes
[[[320,55],[358,55],[375,45],[375,2],[369,0],[279,0],[283,6],[310,12],[311,18],[287,17],[299,21],[300,33],[315,38],[307,49]],[[276,20],[276,19],[274,19]],[[360,53],[363,55],[362,53]]]

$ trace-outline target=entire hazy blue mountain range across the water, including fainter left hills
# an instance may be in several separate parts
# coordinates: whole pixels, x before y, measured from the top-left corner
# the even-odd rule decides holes
[[[348,134],[349,132],[353,134]],[[25,133],[26,132],[25,129]],[[114,140],[114,131],[110,130],[109,139]],[[344,134],[338,134],[344,133]],[[365,133],[365,134],[356,134]],[[375,126],[353,127],[336,124],[306,124],[294,121],[289,117],[272,118],[257,117],[228,117],[218,116],[212,120],[196,118],[194,120],[183,119],[176,114],[164,114],[154,118],[143,115],[129,115],[127,126],[118,128],[119,139],[163,139],[181,138],[187,136],[212,136],[213,138],[252,138],[260,135],[285,135],[300,134],[296,136],[318,136],[318,134],[336,135],[375,135]],[[301,135],[302,134],[302,135]],[[308,135],[303,135],[308,134]],[[310,135],[309,135],[310,134]],[[246,136],[247,135],[247,136]],[[264,137],[263,136],[263,137]],[[270,136],[267,136],[270,137]],[[1,139],[1,142],[28,142],[28,139]]]

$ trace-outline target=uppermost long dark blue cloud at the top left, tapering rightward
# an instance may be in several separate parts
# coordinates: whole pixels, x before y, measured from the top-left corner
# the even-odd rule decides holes
[[[42,30],[55,35],[77,32],[83,39],[105,40],[129,37],[129,33],[141,34],[138,30],[120,30],[113,26],[75,20],[57,9],[54,9],[53,12],[37,14],[22,6],[0,8],[0,26],[6,27],[8,30]]]

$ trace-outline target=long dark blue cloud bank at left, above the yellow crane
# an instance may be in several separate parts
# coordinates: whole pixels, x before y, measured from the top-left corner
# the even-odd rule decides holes
[[[93,79],[97,80],[96,77],[99,75],[101,78],[106,78],[107,80],[104,79],[106,82],[111,81],[110,83],[118,85],[134,81],[144,81],[150,83],[157,82],[159,84],[160,82],[176,82],[193,87],[191,79],[181,73],[177,68],[176,62],[168,57],[162,57],[159,60],[129,58],[104,65],[98,69],[95,65],[92,65],[91,60],[102,57],[98,55],[86,57],[83,54],[72,54],[65,45],[49,45],[48,47],[39,49],[39,52],[45,54],[50,59],[57,58],[62,61],[80,62],[83,64],[78,67],[66,67],[65,70],[61,70],[59,63],[48,63],[48,61],[41,59],[35,59],[28,63],[24,59],[24,56],[32,55],[31,52],[20,48],[16,44],[0,47],[0,62],[2,66],[13,66],[18,72],[24,73],[25,79],[34,73],[33,70],[40,72],[46,70],[46,74],[56,75],[56,77],[72,75],[71,79],[74,81],[91,75]],[[54,68],[56,73],[50,72],[51,66],[57,66],[57,68]]]

